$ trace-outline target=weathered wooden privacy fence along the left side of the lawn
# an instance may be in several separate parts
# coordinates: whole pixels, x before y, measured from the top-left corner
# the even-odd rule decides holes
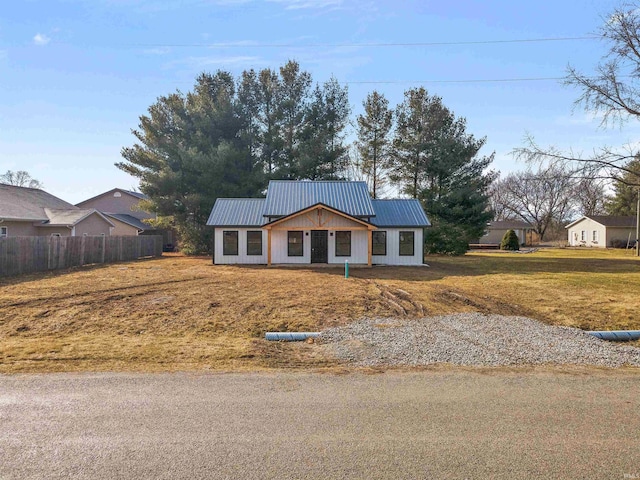
[[[162,255],[162,236],[0,238],[0,276]]]

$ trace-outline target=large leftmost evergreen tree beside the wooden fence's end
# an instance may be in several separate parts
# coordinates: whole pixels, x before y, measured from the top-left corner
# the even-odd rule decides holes
[[[262,168],[250,154],[235,82],[226,72],[200,75],[192,92],[158,98],[122,149],[121,170],[140,179],[147,207],[174,226],[188,252],[206,251],[205,229],[216,198],[258,196]]]

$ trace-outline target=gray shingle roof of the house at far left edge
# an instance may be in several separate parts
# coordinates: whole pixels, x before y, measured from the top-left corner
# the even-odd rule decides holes
[[[45,208],[78,209],[37,188],[0,184],[0,219],[44,221],[48,219]]]

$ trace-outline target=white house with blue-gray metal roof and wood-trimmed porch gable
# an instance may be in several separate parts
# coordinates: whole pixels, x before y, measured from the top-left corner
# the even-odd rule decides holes
[[[266,198],[219,198],[216,264],[421,265],[418,200],[372,200],[365,182],[269,182]]]

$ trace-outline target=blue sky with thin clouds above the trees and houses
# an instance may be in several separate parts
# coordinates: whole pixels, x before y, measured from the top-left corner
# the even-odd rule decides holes
[[[202,71],[300,62],[349,86],[355,113],[377,89],[392,105],[424,85],[487,137],[494,168],[523,168],[509,153],[526,134],[588,152],[636,142],[640,129],[599,128],[573,110],[578,92],[557,78],[569,63],[593,71],[598,40],[468,43],[584,37],[609,0],[17,0],[0,11],[0,173],[27,170],[79,202],[137,181],[113,164],[160,95],[187,91]],[[424,45],[444,43],[444,45]],[[457,44],[452,44],[457,43]],[[220,44],[226,45],[221,46]],[[381,45],[383,44],[383,45]],[[405,45],[389,45],[405,44]],[[406,45],[422,44],[422,45]],[[451,82],[454,81],[454,82]],[[369,83],[380,82],[380,83]],[[391,82],[391,83],[385,83]]]

